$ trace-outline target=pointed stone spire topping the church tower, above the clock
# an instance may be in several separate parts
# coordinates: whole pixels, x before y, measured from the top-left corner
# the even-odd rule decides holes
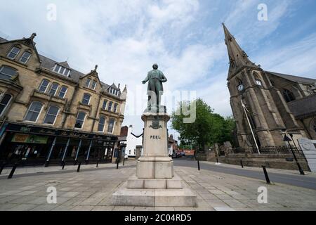
[[[232,36],[232,34],[230,34],[224,23],[223,27],[225,33],[225,44],[227,46],[228,57],[230,60],[230,70],[228,73],[228,77],[234,75],[235,72],[237,72],[237,70],[244,66],[259,69],[259,66],[257,66],[255,63],[252,63],[251,60],[249,60],[246,52],[243,51],[242,48],[240,48],[235,37]]]

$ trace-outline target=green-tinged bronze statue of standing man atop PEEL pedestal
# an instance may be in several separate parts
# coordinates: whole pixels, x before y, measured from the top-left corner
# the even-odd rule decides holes
[[[164,73],[158,70],[157,64],[154,64],[152,68],[154,70],[148,72],[146,79],[143,80],[143,84],[148,82],[148,108],[151,108],[152,106],[157,106],[157,108],[159,108],[161,96],[164,93],[162,83],[167,82],[167,79],[164,76]]]

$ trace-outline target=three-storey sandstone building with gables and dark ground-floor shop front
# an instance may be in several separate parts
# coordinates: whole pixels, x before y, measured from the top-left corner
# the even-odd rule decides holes
[[[0,160],[112,162],[127,90],[0,38]]]

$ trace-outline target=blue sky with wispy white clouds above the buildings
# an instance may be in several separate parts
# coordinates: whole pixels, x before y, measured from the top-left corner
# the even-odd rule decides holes
[[[54,21],[46,19],[51,3],[57,6]],[[197,91],[221,115],[232,114],[223,22],[264,70],[316,77],[314,0],[0,0],[0,4],[1,37],[20,39],[37,32],[37,48],[44,56],[68,58],[81,72],[98,64],[104,82],[127,84],[129,93],[140,88],[152,64],[158,63],[169,79],[166,90]],[[258,4],[268,6],[268,21],[258,20]],[[142,130],[140,115],[127,115],[124,124]]]

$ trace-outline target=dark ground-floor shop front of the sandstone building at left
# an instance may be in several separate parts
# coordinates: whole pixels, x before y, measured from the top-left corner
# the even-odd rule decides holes
[[[116,143],[117,136],[9,123],[0,145],[0,161],[8,165],[112,162]]]

